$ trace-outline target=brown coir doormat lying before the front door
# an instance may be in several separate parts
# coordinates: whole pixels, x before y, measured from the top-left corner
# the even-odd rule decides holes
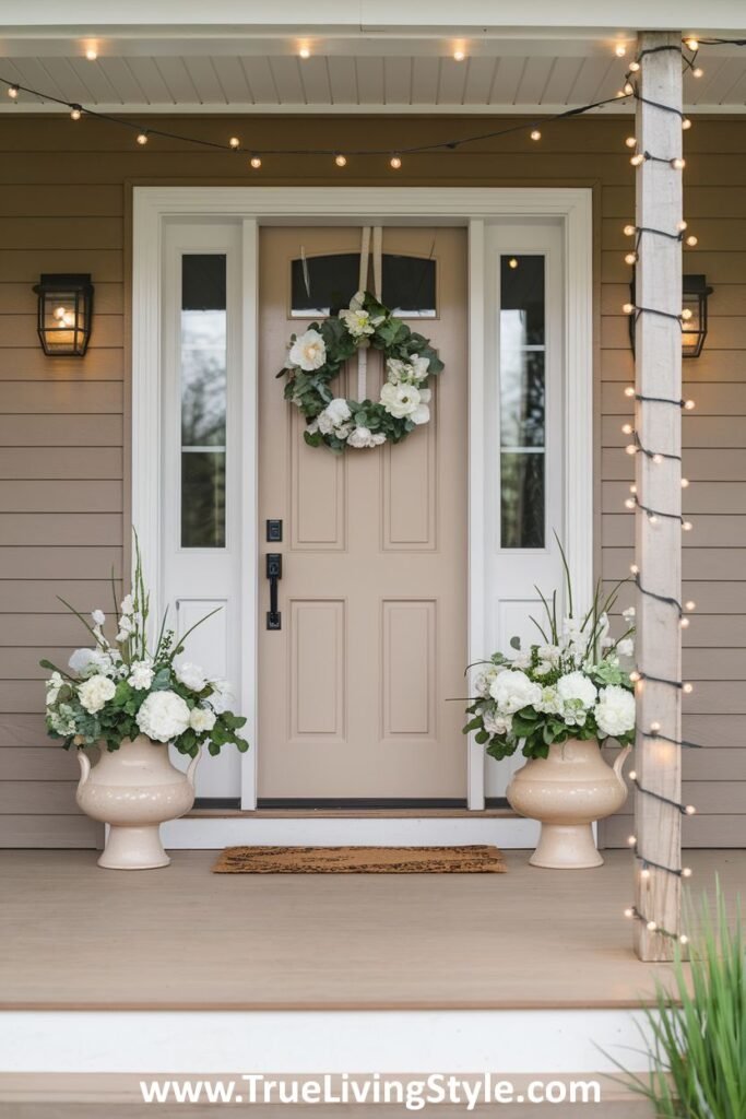
[[[214,874],[506,874],[502,852],[471,847],[226,847]]]

